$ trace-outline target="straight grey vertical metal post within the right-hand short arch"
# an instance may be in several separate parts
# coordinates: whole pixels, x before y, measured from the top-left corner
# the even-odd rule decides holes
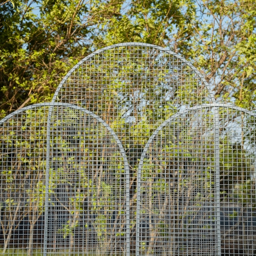
[[[215,211],[217,227],[217,255],[221,256],[221,223],[220,223],[220,129],[219,129],[219,108],[214,108],[214,153],[215,153]]]

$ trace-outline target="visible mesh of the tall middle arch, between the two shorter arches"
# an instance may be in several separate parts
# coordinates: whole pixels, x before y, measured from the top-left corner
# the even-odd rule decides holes
[[[82,106],[114,130],[130,166],[131,249],[135,252],[136,176],[147,140],[181,109],[214,102],[203,76],[164,48],[126,43],[81,60],[62,80],[54,102]]]

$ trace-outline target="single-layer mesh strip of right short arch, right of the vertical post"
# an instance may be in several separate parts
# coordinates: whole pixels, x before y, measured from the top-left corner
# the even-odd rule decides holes
[[[222,255],[256,254],[256,119],[220,106],[220,220]]]

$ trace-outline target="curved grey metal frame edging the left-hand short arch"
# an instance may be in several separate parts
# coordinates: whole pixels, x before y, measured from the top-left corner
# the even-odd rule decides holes
[[[116,136],[115,132],[111,129],[111,127],[105,122],[103,121],[100,117],[98,117],[97,115],[93,114],[92,112],[81,108],[80,106],[76,106],[70,103],[57,103],[57,102],[46,102],[46,103],[37,103],[37,104],[33,104],[33,105],[29,105],[26,106],[22,109],[16,110],[13,113],[9,114],[8,116],[4,117],[2,120],[0,120],[0,125],[2,125],[4,122],[8,121],[10,118],[12,118],[13,116],[20,114],[26,110],[33,110],[37,107],[41,107],[41,106],[50,106],[50,107],[54,107],[54,106],[66,106],[68,108],[74,109],[74,110],[80,110],[86,114],[89,114],[90,116],[94,117],[95,119],[97,119],[100,123],[103,124],[103,126],[106,128],[106,130],[108,130],[110,132],[110,134],[114,137],[114,139],[116,140],[119,148],[120,148],[120,153],[123,157],[123,161],[124,161],[124,168],[125,168],[125,201],[126,201],[126,255],[129,256],[130,255],[130,170],[129,170],[129,164],[125,155],[125,151],[124,148],[121,144],[121,141],[119,140],[119,138]],[[52,108],[50,108],[51,111]],[[47,124],[48,126],[48,124]],[[45,254],[45,253],[44,253]]]

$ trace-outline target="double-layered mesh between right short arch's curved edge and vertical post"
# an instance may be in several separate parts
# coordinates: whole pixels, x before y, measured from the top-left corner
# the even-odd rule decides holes
[[[145,146],[138,170],[137,255],[218,254],[216,114],[184,111]]]

